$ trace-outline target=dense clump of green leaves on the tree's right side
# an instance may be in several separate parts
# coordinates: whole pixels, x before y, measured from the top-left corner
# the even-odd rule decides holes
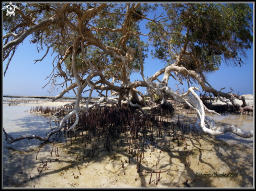
[[[252,10],[248,4],[162,4],[169,16],[147,27],[155,51],[151,54],[166,64],[177,62],[187,69],[210,73],[221,61],[241,66],[252,44]],[[161,38],[163,37],[163,38]]]

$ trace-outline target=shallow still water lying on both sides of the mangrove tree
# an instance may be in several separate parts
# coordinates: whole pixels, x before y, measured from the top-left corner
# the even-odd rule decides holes
[[[30,99],[40,100],[40,99]],[[40,104],[40,103],[39,103]],[[49,116],[40,116],[29,113],[31,106],[29,105],[3,105],[3,127],[7,133],[10,133],[13,137],[20,135],[39,135],[45,136],[49,132],[50,128],[47,126],[47,121],[50,120]],[[25,112],[28,111],[28,112]],[[237,114],[222,114],[221,116],[214,114],[207,114],[215,120],[216,125],[224,126],[226,124],[234,125],[235,127],[241,128],[246,131],[253,129],[253,116],[251,115],[237,115]],[[197,130],[200,130],[200,121],[196,114],[180,114],[180,120],[184,123],[190,124],[191,129],[194,125]],[[172,117],[172,121],[176,121],[178,115]],[[54,122],[51,122],[51,126],[55,126]],[[202,131],[201,131],[202,133]],[[253,137],[252,138],[241,138],[232,133],[226,133],[224,135],[216,136],[217,139],[224,140],[230,145],[242,144],[249,148],[253,148]],[[34,144],[39,145],[39,140],[22,140],[14,142],[12,147],[23,150],[28,146]],[[24,145],[25,144],[25,145]],[[4,147],[7,146],[4,141]],[[9,146],[9,145],[8,145]],[[5,149],[4,149],[5,150]]]

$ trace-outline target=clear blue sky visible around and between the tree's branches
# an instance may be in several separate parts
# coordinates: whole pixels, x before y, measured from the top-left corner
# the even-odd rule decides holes
[[[251,8],[253,4],[250,4]],[[254,27],[253,27],[254,29]],[[143,31],[144,29],[141,27],[142,33],[146,33]],[[4,32],[4,31],[3,31]],[[46,53],[46,47],[44,47],[43,51],[38,53],[36,49],[36,44],[29,43],[30,36],[27,37],[22,44],[19,45],[18,49],[15,52],[15,55],[12,58],[12,61],[9,64],[8,70],[4,77],[4,70],[7,64],[7,59],[3,63],[3,95],[57,95],[62,91],[62,88],[59,88],[57,91],[53,92],[53,94],[49,94],[47,90],[50,89],[50,86],[46,86],[46,83],[49,79],[46,79],[47,76],[50,75],[52,71],[52,61],[54,58],[54,54],[51,56],[51,51],[49,51],[48,55],[41,62],[35,63],[35,59],[41,59],[42,56]],[[253,44],[254,48],[254,44]],[[230,87],[234,90],[233,93],[242,94],[253,94],[254,86],[253,86],[253,48],[247,51],[248,59],[245,62],[246,64],[242,65],[242,67],[231,67],[225,66],[225,64],[221,64],[220,69],[208,75],[207,79],[210,85],[216,90],[220,90],[221,88],[226,87],[224,92],[230,91]],[[151,49],[149,50],[150,53]],[[148,58],[144,61],[144,76],[152,76],[156,71],[164,67],[164,64],[154,59],[152,60],[150,54],[148,54]],[[44,80],[46,79],[46,80]],[[132,74],[130,77],[131,81],[142,80],[139,74]],[[162,76],[159,77],[162,79]],[[172,77],[169,80],[169,87],[173,90],[176,90],[175,81]],[[184,85],[179,85],[180,89],[184,88],[187,90],[187,83]],[[64,88],[64,87],[63,87]],[[142,93],[146,91],[146,88],[138,88]],[[202,88],[201,88],[202,91]],[[110,93],[110,92],[109,92]],[[69,91],[64,96],[73,97],[73,91]],[[83,97],[88,96],[88,92],[82,94]],[[98,96],[96,91],[93,91],[92,96]]]

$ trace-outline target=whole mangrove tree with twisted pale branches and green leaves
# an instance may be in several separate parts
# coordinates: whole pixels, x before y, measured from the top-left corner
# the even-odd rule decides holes
[[[5,4],[4,4],[5,5]],[[188,104],[197,111],[203,130],[211,135],[226,133],[226,127],[217,129],[210,125],[209,117],[205,117],[202,101],[195,94],[199,84],[204,91],[216,97],[231,100],[243,97],[235,93],[215,90],[206,81],[205,75],[218,70],[222,61],[226,64],[241,66],[247,57],[246,50],[251,49],[252,10],[247,4],[14,4],[19,9],[10,17],[4,14],[3,60],[12,59],[18,45],[31,35],[30,43],[36,44],[39,51],[43,46],[52,49],[58,55],[53,59],[53,70],[49,76],[52,86],[55,78],[63,81],[59,85],[62,92],[55,95],[53,101],[60,99],[66,92],[74,91],[77,99],[75,108],[63,118],[66,120],[76,115],[77,124],[79,111],[87,111],[101,102],[112,104],[116,110],[123,103],[138,108],[145,105],[145,97],[154,93],[161,95],[161,104],[167,105],[166,95],[171,99]],[[152,17],[155,10],[162,7],[164,13]],[[148,34],[140,31],[142,20],[147,21]],[[166,66],[145,78],[144,58],[148,55],[149,43],[140,39],[147,36],[154,47],[151,52],[154,58],[165,62]],[[37,59],[36,62],[42,61]],[[10,61],[9,59],[9,61]],[[8,61],[4,74],[10,62]],[[142,80],[130,81],[132,73],[140,73]],[[173,74],[171,74],[173,73]],[[158,77],[164,74],[162,80]],[[98,80],[92,78],[98,76]],[[174,92],[168,86],[169,77],[180,83],[187,82],[188,91],[184,94]],[[49,83],[48,82],[48,83]],[[147,87],[145,94],[137,87]],[[79,108],[83,102],[82,92],[90,88],[86,107]],[[88,107],[92,91],[96,90],[102,99]],[[118,95],[118,100],[104,95],[110,91]],[[221,98],[220,98],[221,99]],[[227,103],[228,104],[228,103]],[[251,109],[251,108],[250,108]],[[214,112],[209,111],[208,112]],[[63,122],[58,130],[62,128]],[[206,122],[209,128],[206,128]],[[233,128],[233,127],[232,127]],[[69,129],[69,130],[70,130]],[[214,129],[214,130],[213,130]],[[229,130],[231,131],[231,130]],[[236,133],[243,137],[250,133]],[[47,136],[47,140],[52,134]]]

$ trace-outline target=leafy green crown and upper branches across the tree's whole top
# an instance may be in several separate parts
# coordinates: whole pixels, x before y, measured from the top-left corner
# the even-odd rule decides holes
[[[3,28],[7,33],[18,34],[39,25],[41,21],[49,21],[49,18],[60,19],[58,22],[43,24],[33,31],[30,43],[37,45],[38,52],[42,50],[43,45],[51,45],[53,52],[58,54],[59,61],[67,57],[60,65],[70,78],[74,77],[71,67],[72,52],[68,55],[65,55],[65,52],[73,46],[76,48],[74,50],[78,50],[75,66],[80,78],[94,70],[101,71],[107,80],[115,77],[117,82],[118,77],[124,77],[123,59],[120,59],[120,56],[124,58],[129,48],[135,50],[135,54],[132,55],[134,61],[128,61],[129,72],[138,73],[141,69],[140,54],[137,37],[133,32],[140,35],[142,20],[148,21],[146,28],[150,31],[147,40],[154,47],[151,51],[153,57],[161,59],[166,66],[183,66],[201,76],[218,70],[222,61],[241,66],[247,56],[246,50],[251,49],[253,41],[252,10],[248,4],[242,3],[172,3],[139,6],[109,3],[102,9],[98,7],[103,4],[97,3],[15,5],[20,8],[15,17],[7,17],[4,14]],[[150,14],[161,8],[163,15],[152,18]],[[64,11],[60,14],[62,9]],[[83,16],[84,19],[81,20]],[[77,44],[73,44],[74,39],[78,37],[80,39]],[[84,62],[82,38],[87,38],[84,51],[93,68]],[[14,35],[4,39],[4,44],[12,40]],[[144,61],[148,57],[149,43],[140,39],[140,45]],[[5,51],[4,57],[7,58],[8,54],[8,51]],[[185,76],[179,74],[179,79],[184,80]]]

